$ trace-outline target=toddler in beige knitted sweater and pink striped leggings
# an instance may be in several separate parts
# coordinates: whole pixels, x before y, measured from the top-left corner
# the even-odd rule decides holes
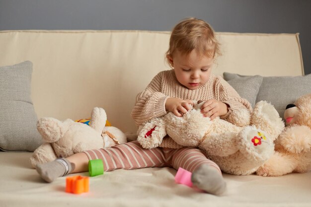
[[[191,100],[205,100],[201,112],[212,120],[231,121],[234,110],[251,111],[248,101],[222,78],[211,73],[219,55],[219,43],[211,26],[203,20],[188,18],[172,30],[166,58],[170,70],[159,72],[136,97],[132,117],[137,126],[168,112],[181,117],[191,110]],[[164,138],[160,147],[144,149],[137,141],[111,148],[88,150],[67,158],[39,164],[36,169],[47,182],[68,173],[85,172],[90,159],[102,159],[104,170],[145,167],[182,167],[192,172],[193,185],[207,193],[220,195],[226,189],[220,168],[195,147],[176,146]]]

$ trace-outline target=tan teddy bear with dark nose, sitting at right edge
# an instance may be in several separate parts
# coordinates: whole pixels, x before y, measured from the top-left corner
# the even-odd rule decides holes
[[[280,176],[311,170],[311,93],[289,104],[284,112],[286,127],[275,140],[276,152],[257,175]]]

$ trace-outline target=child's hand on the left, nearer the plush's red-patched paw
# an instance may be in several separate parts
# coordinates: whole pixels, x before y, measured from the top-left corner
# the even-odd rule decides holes
[[[182,117],[183,114],[191,110],[194,103],[191,100],[183,100],[180,98],[167,98],[165,102],[165,109],[172,112],[177,117]]]

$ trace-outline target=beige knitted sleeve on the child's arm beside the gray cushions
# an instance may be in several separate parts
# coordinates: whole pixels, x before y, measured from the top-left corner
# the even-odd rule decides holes
[[[234,111],[237,110],[247,110],[249,114],[252,112],[252,108],[250,103],[239,96],[239,94],[233,89],[229,83],[224,80],[222,77],[218,77],[219,81],[217,81],[216,87],[219,91],[219,100],[229,105],[229,111],[226,115],[220,117],[226,121],[232,122],[231,115]],[[246,121],[248,122],[248,121]],[[236,123],[233,123],[236,124]]]

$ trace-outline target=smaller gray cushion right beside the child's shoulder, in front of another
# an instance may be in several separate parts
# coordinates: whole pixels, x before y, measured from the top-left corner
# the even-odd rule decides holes
[[[262,82],[260,75],[254,76],[233,76],[232,73],[224,72],[224,79],[236,90],[236,92],[245,98],[252,107],[255,106],[256,97]]]

